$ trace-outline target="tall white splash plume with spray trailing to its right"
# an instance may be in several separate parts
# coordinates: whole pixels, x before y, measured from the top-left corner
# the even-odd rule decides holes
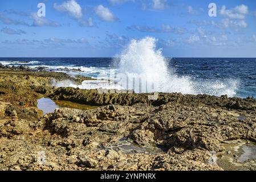
[[[117,72],[128,78],[121,76],[119,84],[123,89],[133,89],[136,93],[152,92],[149,90],[149,84],[153,83],[153,92],[235,96],[238,89],[237,80],[194,81],[189,76],[178,76],[173,69],[167,67],[161,49],[156,49],[156,41],[151,37],[132,40],[121,53]],[[146,84],[143,85],[143,82]]]

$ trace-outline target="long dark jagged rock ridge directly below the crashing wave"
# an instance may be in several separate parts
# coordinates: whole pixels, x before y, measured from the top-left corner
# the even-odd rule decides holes
[[[78,88],[56,88],[53,93],[48,95],[54,100],[66,100],[87,105],[127,105],[145,103],[153,106],[160,106],[166,103],[182,104],[189,106],[208,105],[214,108],[226,107],[234,110],[256,110],[256,100],[254,98],[228,98],[227,96],[209,95],[183,95],[181,93],[159,93],[156,100],[149,100],[152,94],[135,93],[100,93],[96,89],[86,90]]]

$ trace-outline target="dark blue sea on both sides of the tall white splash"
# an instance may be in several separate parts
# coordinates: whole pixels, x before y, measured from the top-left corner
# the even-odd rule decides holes
[[[256,97],[256,58],[166,58],[165,60],[172,74],[177,77],[188,77],[190,81],[196,83],[195,88],[201,90],[196,92],[198,94]],[[44,67],[47,71],[94,78],[99,75],[107,76],[111,70],[118,69],[119,61],[117,58],[0,58],[0,63],[3,65],[15,67],[25,65],[31,69]],[[169,80],[171,81],[172,77]],[[176,84],[180,82],[182,79],[177,80]],[[175,91],[179,92],[180,90],[177,89]]]

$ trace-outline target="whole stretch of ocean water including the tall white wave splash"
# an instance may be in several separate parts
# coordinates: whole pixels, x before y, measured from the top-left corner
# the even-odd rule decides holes
[[[115,58],[2,57],[0,63],[96,78],[81,85],[52,80],[55,86],[256,97],[256,58],[170,58],[156,42],[150,37],[132,40]]]

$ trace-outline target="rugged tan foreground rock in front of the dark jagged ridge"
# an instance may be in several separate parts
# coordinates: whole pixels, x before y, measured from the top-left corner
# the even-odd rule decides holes
[[[251,111],[204,104],[63,108],[36,122],[19,118],[13,123],[6,113],[0,169],[222,170],[209,163],[211,152],[221,158],[222,142],[255,138]]]

